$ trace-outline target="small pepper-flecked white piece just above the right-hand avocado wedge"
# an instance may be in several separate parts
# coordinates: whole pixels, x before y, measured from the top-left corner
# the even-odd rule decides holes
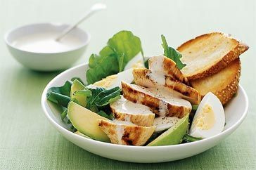
[[[174,126],[178,121],[178,117],[157,117],[154,119],[153,126],[155,126],[155,132],[164,131]]]

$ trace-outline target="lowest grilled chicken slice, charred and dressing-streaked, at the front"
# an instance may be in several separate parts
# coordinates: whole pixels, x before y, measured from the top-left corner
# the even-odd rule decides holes
[[[136,126],[124,121],[101,119],[98,126],[107,134],[111,143],[141,146],[155,131],[155,126]]]

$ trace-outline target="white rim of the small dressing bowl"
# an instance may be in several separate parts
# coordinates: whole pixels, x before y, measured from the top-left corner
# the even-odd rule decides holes
[[[87,39],[86,41],[82,42],[81,45],[75,47],[75,48],[72,48],[70,50],[65,50],[65,51],[59,51],[59,52],[49,52],[49,53],[44,53],[44,52],[32,52],[32,51],[26,51],[26,50],[23,50],[23,49],[20,49],[20,48],[17,48],[15,46],[13,46],[11,44],[10,41],[8,41],[8,37],[15,31],[17,30],[20,30],[24,27],[34,27],[36,25],[52,25],[52,26],[61,26],[61,25],[64,25],[64,26],[70,26],[69,24],[65,24],[65,23],[60,23],[60,22],[38,22],[38,23],[32,23],[32,24],[27,24],[27,25],[22,25],[22,26],[19,26],[19,27],[15,27],[11,30],[8,30],[6,32],[6,34],[4,34],[4,41],[6,42],[7,46],[11,46],[12,48],[15,48],[16,50],[19,50],[19,51],[23,51],[25,53],[34,53],[34,54],[57,54],[57,53],[66,53],[66,52],[70,52],[70,51],[76,51],[78,50],[79,48],[83,48],[84,46],[87,46],[89,44],[89,41],[91,41],[91,34],[89,34],[89,32],[85,31],[85,30],[82,30],[81,28],[79,27],[75,27],[75,29],[79,30],[80,32],[84,32],[84,34],[87,36]]]

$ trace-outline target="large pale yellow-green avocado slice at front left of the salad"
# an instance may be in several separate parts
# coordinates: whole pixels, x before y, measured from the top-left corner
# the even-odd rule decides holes
[[[68,104],[68,117],[75,129],[84,135],[95,140],[110,142],[108,136],[98,126],[98,119],[108,120],[107,118],[101,117],[72,101]]]

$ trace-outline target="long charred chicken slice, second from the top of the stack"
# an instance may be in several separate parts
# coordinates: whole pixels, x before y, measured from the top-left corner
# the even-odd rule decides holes
[[[163,76],[164,79],[163,84],[159,82],[158,79],[162,75],[154,74],[151,70],[146,68],[136,68],[133,71],[135,84],[144,87],[151,88],[165,88],[170,93],[177,93],[178,96],[190,101],[193,105],[198,105],[201,100],[200,93],[193,89],[191,86],[187,86],[186,84],[173,79],[172,77]],[[158,78],[156,78],[158,77]]]

